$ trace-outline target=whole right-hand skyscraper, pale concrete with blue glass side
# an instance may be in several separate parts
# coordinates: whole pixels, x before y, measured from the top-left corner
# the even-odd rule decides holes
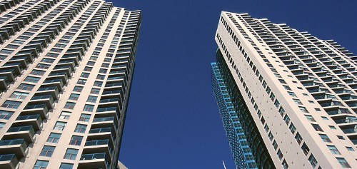
[[[357,166],[356,56],[230,12],[216,43],[213,91],[237,168]]]

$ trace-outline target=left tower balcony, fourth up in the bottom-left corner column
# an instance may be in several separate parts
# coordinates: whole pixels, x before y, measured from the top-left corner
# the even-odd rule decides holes
[[[41,130],[42,118],[39,114],[18,116],[13,126],[32,126],[34,130]]]

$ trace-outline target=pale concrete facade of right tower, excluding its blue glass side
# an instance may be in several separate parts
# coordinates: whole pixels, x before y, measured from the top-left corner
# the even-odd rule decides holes
[[[351,53],[285,24],[230,12],[221,13],[216,43],[276,168],[357,166],[357,66]],[[321,60],[322,54],[334,64]],[[335,65],[340,67],[332,68]],[[336,75],[339,70],[347,77]],[[323,71],[326,76],[321,76]],[[330,79],[348,93],[339,93],[341,86],[333,87]],[[311,86],[310,81],[314,81]],[[322,95],[335,97],[319,98]]]

